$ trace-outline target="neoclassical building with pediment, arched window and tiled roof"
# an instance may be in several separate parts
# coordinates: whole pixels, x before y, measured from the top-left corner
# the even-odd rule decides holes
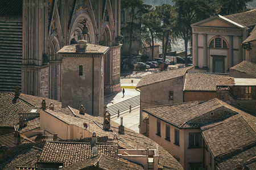
[[[199,71],[227,73],[231,67],[244,61],[242,42],[256,25],[255,15],[256,10],[251,10],[213,16],[192,24],[193,65]]]

